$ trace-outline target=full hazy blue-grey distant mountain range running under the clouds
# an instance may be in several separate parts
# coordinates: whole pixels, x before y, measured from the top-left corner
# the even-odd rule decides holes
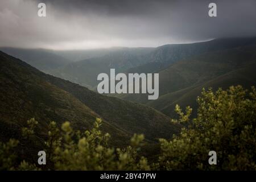
[[[224,51],[255,44],[256,38],[226,38],[192,44],[170,44],[156,48],[106,48],[54,51],[47,49],[0,48],[40,71],[95,89],[99,73],[160,72],[176,61],[207,52]]]

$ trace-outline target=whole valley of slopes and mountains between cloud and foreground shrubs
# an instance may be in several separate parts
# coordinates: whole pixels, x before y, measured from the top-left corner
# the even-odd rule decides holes
[[[77,61],[76,51],[2,49],[14,57],[0,52],[1,140],[19,138],[20,128],[30,118],[39,121],[36,133],[42,139],[50,121],[59,126],[70,121],[74,129],[85,130],[102,118],[101,130],[112,135],[110,144],[126,146],[134,133],[144,134],[147,151],[155,154],[159,138],[172,138],[184,127],[170,122],[176,118],[176,104],[197,108],[196,98],[203,88],[256,85],[254,38],[81,51],[77,57],[90,57],[82,61]],[[38,59],[42,54],[47,56]],[[52,59],[56,64],[48,64]],[[97,74],[109,74],[112,68],[126,77],[131,72],[159,73],[159,98],[148,100],[147,94],[134,92],[97,93]],[[196,114],[194,111],[192,116]],[[34,148],[38,145],[31,143]]]

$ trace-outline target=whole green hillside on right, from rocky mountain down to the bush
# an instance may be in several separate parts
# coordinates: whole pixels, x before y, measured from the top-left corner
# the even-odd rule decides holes
[[[115,96],[123,100],[152,106],[164,114],[172,116],[174,113],[171,111],[174,110],[177,103],[196,104],[195,99],[192,101],[189,98],[199,96],[204,86],[205,88],[212,86],[215,89],[218,87],[228,89],[230,85],[234,84],[246,88],[249,88],[248,85],[255,85],[255,49],[256,46],[253,44],[209,51],[181,59],[166,68],[160,68],[157,71],[159,73],[159,98],[157,100],[147,100],[147,96],[144,94],[116,94]],[[156,66],[154,65],[154,67]],[[241,71],[241,69],[245,71]],[[245,72],[245,74],[241,75],[241,72]],[[181,93],[184,90],[186,90],[185,93]],[[196,95],[193,94],[195,92]],[[191,94],[193,94],[192,97]]]

